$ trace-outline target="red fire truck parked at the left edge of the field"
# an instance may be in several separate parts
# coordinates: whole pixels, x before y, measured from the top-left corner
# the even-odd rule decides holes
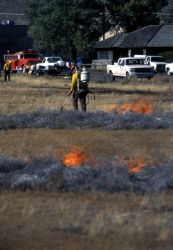
[[[14,54],[4,55],[4,62],[7,61],[11,61],[12,71],[17,72],[41,62],[41,56],[34,50],[19,51]]]

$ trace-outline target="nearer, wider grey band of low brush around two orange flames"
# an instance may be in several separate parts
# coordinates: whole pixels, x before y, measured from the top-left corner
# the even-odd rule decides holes
[[[117,160],[97,159],[77,168],[65,167],[52,158],[31,162],[0,155],[0,191],[103,191],[159,192],[173,189],[173,161],[161,166],[147,166],[132,174]]]

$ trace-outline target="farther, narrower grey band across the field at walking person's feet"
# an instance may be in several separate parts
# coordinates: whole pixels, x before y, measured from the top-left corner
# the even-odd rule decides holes
[[[124,113],[73,112],[37,110],[14,115],[0,114],[0,129],[16,128],[104,128],[104,129],[166,129],[173,128],[173,112]]]

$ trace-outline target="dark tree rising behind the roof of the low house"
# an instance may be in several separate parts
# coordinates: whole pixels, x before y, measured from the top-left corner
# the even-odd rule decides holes
[[[167,0],[106,0],[113,24],[119,24],[127,32],[138,28],[159,24],[157,14]]]

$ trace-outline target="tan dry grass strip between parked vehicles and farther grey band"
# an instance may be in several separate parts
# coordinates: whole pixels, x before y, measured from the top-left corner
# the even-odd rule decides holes
[[[100,80],[103,74],[100,76]],[[172,79],[172,78],[170,78]],[[62,76],[52,77],[29,77],[26,75],[14,75],[10,83],[4,83],[0,79],[0,112],[15,114],[18,112],[28,113],[38,109],[60,110],[65,96],[70,88],[70,79]],[[150,99],[154,112],[169,112],[173,109],[172,82],[160,77],[160,82],[153,78],[152,81],[131,80],[128,82],[118,81],[115,83],[90,82],[90,89],[94,91],[89,95],[87,110],[89,112],[107,111],[112,107],[120,107],[135,103],[143,99],[146,104]],[[144,105],[144,103],[143,103]],[[67,101],[64,110],[72,110],[71,98]]]

